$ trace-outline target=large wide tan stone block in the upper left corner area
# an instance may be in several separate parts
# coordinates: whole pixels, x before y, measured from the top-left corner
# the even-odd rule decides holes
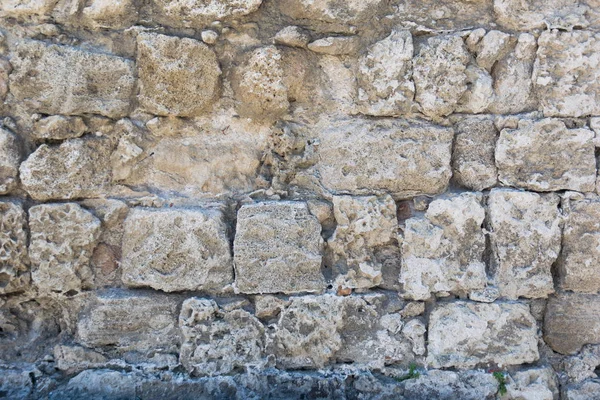
[[[72,47],[23,41],[12,49],[10,92],[44,114],[127,115],[133,62]]]

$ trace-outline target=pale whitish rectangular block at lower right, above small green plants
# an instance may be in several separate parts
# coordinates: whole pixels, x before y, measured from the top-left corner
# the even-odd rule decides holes
[[[427,362],[434,368],[515,365],[539,358],[535,319],[525,304],[457,301],[429,318]]]

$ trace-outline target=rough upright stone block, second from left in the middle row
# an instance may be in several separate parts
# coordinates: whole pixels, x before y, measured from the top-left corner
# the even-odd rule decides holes
[[[90,287],[90,258],[100,221],[75,203],[29,209],[29,258],[33,283],[42,292],[66,293]]]

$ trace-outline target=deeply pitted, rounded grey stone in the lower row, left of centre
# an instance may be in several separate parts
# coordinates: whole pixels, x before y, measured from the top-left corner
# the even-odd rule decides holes
[[[247,311],[219,309],[214,300],[191,298],[179,315],[183,334],[180,361],[193,375],[227,374],[260,364],[265,333]]]

